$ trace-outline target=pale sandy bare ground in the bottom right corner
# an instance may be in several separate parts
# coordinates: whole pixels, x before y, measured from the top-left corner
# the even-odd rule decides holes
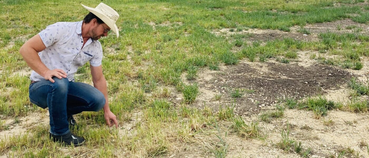
[[[340,110],[328,111],[326,120],[332,121],[331,125],[324,125],[324,119],[314,119],[313,112],[305,110],[285,110],[282,119],[274,119],[272,123],[261,122],[263,134],[266,140],[245,140],[230,136],[228,156],[232,157],[266,157],[266,158],[295,158],[300,157],[296,152],[283,151],[277,145],[282,139],[281,132],[290,126],[289,138],[301,142],[304,150],[311,148],[311,158],[325,158],[330,155],[338,157],[339,150],[350,147],[361,155],[368,157],[366,147],[360,145],[367,143],[368,115],[343,112]],[[248,122],[258,119],[258,115],[244,117]],[[346,155],[350,157],[350,155]]]

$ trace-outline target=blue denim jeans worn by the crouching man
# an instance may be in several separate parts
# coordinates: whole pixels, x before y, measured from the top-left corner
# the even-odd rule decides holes
[[[95,87],[68,78],[52,78],[30,84],[30,101],[41,108],[49,108],[50,133],[61,136],[69,132],[67,116],[83,111],[99,111],[105,97]]]

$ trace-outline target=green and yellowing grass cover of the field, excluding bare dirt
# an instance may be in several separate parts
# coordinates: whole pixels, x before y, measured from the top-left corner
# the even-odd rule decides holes
[[[286,96],[284,101],[281,99],[282,102],[275,103],[278,104],[276,109],[268,110],[264,108],[272,104],[258,109],[263,102],[274,99],[269,95],[264,96],[263,92],[278,96],[283,95],[283,92],[277,94],[279,92],[258,89],[252,85],[248,87],[249,83],[245,83],[234,85],[230,91],[217,89],[215,95],[204,94],[201,91],[203,82],[200,82],[199,77],[203,70],[220,68],[222,71],[215,73],[225,74],[229,67],[239,63],[246,63],[250,67],[262,65],[265,68],[265,65],[277,60],[285,63],[282,65],[292,66],[295,62],[301,63],[299,60],[304,56],[300,52],[303,51],[312,52],[310,59],[317,60],[314,61],[316,65],[314,63],[312,66],[327,64],[358,70],[354,73],[366,71],[369,36],[362,25],[367,25],[369,21],[369,7],[356,6],[363,0],[123,2],[124,5],[116,0],[103,2],[112,6],[121,16],[117,21],[120,38],[109,33],[107,37],[99,39],[104,54],[102,67],[107,80],[108,102],[111,111],[117,115],[120,127],[118,130],[106,127],[103,111],[80,113],[75,116],[80,130],[74,132],[84,136],[87,142],[84,147],[78,148],[64,147],[49,140],[48,122],[37,120],[37,123],[27,123],[32,116],[47,118],[48,110],[30,103],[28,87],[31,69],[18,51],[25,41],[46,26],[59,21],[80,21],[88,11],[76,1],[0,2],[0,156],[180,157],[203,153],[204,157],[237,157],[235,151],[230,152],[235,145],[239,145],[232,142],[233,139],[237,136],[237,141],[251,142],[249,144],[254,141],[252,139],[266,140],[262,142],[263,145],[270,143],[270,131],[264,125],[275,122],[284,124],[289,119],[289,112],[295,111],[284,108],[303,107],[313,111],[317,118],[328,115],[328,110],[335,108],[354,113],[368,112],[369,103],[365,95],[368,95],[369,85],[355,78],[348,83],[352,89],[348,102],[333,102],[322,96]],[[341,6],[335,6],[337,3]],[[82,4],[94,7],[97,2],[84,1]],[[322,31],[318,40],[310,40],[315,38],[316,30],[307,24],[325,24],[350,18],[361,24],[339,24],[330,28],[333,31]],[[291,29],[296,26],[301,26],[297,28],[299,36],[309,36],[303,36],[304,40],[288,36],[296,34],[296,30]],[[220,35],[213,33],[220,29],[226,31]],[[268,38],[262,38],[260,34],[249,33],[254,29],[284,31],[282,33],[286,36],[266,34]],[[92,84],[90,73],[89,64],[85,64],[77,70],[75,81]],[[256,72],[253,77],[262,78],[265,75]],[[265,101],[258,99],[251,102],[258,95]],[[228,105],[231,100],[239,102]],[[217,109],[218,104],[213,103],[219,103],[220,108]],[[208,105],[215,105],[215,108],[211,109]],[[252,110],[243,111],[240,106]],[[259,115],[261,109],[263,111]],[[258,118],[255,115],[259,115]],[[327,117],[317,121],[325,126],[335,124]],[[342,126],[355,125],[354,121],[346,120]],[[294,134],[288,126],[281,131],[280,142],[273,142],[276,143],[274,147],[301,157],[310,157],[311,149],[304,143],[309,138],[293,138]],[[18,127],[27,129],[27,132],[7,134],[11,130],[19,130]],[[301,129],[311,131],[314,126],[309,124]],[[279,132],[280,125],[273,130]],[[3,133],[6,133],[5,137],[2,137]],[[363,144],[360,147],[364,148]],[[192,148],[196,148],[197,153],[190,153],[194,151]],[[367,144],[366,149],[369,154]],[[241,153],[239,157],[244,156],[243,147],[237,152]],[[361,156],[352,147],[337,151],[337,155]],[[260,157],[263,156],[277,157]]]

